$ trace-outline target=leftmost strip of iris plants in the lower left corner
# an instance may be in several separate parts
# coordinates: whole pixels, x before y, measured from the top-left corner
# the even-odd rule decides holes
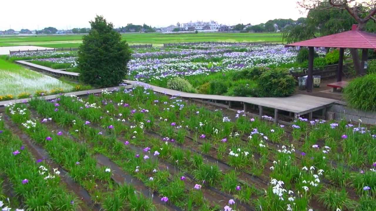
[[[50,168],[45,162],[35,160],[29,149],[5,128],[0,119],[0,168],[12,184],[21,203],[17,209],[13,199],[0,199],[2,210],[76,210],[77,198],[61,184],[58,169]],[[8,208],[8,209],[7,209]]]

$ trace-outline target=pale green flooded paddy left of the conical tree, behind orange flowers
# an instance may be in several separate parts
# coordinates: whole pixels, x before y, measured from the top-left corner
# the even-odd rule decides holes
[[[37,91],[52,89],[71,90],[71,84],[56,78],[23,68],[14,63],[0,59],[0,95],[13,95],[27,92],[34,95]]]

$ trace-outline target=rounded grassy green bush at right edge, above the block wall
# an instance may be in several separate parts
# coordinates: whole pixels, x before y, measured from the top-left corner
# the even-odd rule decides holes
[[[344,95],[350,107],[376,111],[376,73],[352,80],[344,88]]]

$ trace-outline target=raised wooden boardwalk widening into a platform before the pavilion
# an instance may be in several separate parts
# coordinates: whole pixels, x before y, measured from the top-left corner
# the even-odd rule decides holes
[[[180,92],[173,89],[167,89],[159,86],[153,86],[146,83],[141,83],[139,81],[124,80],[127,84],[132,84],[134,86],[149,86],[155,92],[165,93],[173,96],[181,96],[185,98],[197,98],[197,99],[208,99],[214,101],[227,101],[229,107],[231,107],[231,102],[241,102],[244,105],[244,110],[247,110],[247,105],[258,105],[259,116],[262,116],[263,107],[274,109],[274,121],[278,119],[278,111],[286,111],[293,113],[295,117],[309,114],[309,118],[312,118],[312,112],[317,110],[325,110],[327,107],[331,106],[334,102],[338,101],[335,99],[321,98],[310,95],[293,95],[289,97],[268,97],[268,98],[256,98],[256,97],[236,97],[236,96],[223,96],[223,95],[204,95]],[[323,115],[324,116],[324,115]]]

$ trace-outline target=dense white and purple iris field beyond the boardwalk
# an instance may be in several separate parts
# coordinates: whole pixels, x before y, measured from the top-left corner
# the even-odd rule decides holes
[[[158,51],[136,50],[129,62],[128,79],[167,87],[171,78],[180,77],[188,80],[194,89],[199,89],[207,78],[244,69],[265,67],[284,69],[287,72],[291,68],[298,68],[302,65],[295,61],[298,50],[299,48],[285,48],[284,45],[247,44],[199,44]],[[325,52],[321,48],[316,51],[319,55]],[[74,57],[38,59],[33,62],[44,62],[47,66],[64,63],[69,68],[77,65]]]

